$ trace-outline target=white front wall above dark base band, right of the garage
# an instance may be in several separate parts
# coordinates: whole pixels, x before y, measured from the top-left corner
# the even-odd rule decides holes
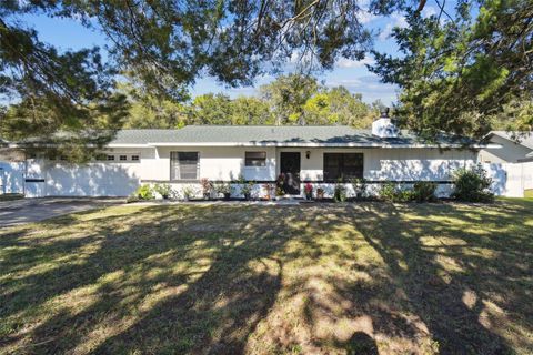
[[[240,146],[160,146],[142,155],[141,180],[170,180],[170,152],[199,152],[200,179],[234,181],[239,175],[245,180],[274,181],[280,173],[281,152],[300,152],[302,181],[323,180],[323,154],[363,153],[364,178],[368,180],[447,181],[451,172],[472,165],[476,153],[467,150],[439,151],[438,149],[324,149],[324,148],[240,148]],[[244,166],[247,151],[266,152],[266,166]],[[306,152],[310,152],[309,159]]]

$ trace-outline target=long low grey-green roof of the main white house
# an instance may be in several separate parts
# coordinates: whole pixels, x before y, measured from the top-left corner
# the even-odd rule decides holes
[[[436,144],[464,145],[472,141],[442,134]],[[398,138],[379,138],[371,130],[346,125],[188,125],[180,130],[121,130],[111,145],[276,145],[276,146],[413,146],[426,142],[401,131]]]

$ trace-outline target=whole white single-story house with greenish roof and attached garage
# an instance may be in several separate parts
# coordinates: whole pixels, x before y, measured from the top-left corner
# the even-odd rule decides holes
[[[254,194],[280,174],[292,176],[288,193],[303,195],[303,184],[332,192],[339,179],[364,178],[370,186],[393,181],[439,183],[450,192],[451,174],[477,161],[480,149],[442,134],[438,144],[400,131],[382,116],[372,130],[350,126],[189,125],[179,130],[121,130],[98,160],[84,165],[57,159],[24,162],[28,196],[127,196],[141,184],[167,183],[200,191],[200,180],[253,181]],[[495,148],[495,145],[493,145]],[[295,181],[295,183],[294,183]],[[350,194],[350,184],[346,184]]]

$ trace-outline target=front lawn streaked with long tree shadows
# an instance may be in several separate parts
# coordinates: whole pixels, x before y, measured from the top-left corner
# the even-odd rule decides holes
[[[0,353],[531,354],[532,211],[129,205],[0,230]]]

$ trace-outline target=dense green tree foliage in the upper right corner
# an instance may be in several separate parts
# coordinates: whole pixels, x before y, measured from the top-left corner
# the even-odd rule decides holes
[[[533,2],[483,1],[472,17],[475,4],[460,1],[454,17],[408,10],[409,26],[393,33],[403,55],[374,52],[371,70],[402,88],[403,123],[426,138],[481,138],[510,115],[511,129],[531,130]]]

